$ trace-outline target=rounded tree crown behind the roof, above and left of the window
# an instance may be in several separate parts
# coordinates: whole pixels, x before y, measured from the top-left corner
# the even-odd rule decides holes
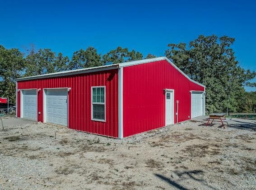
[[[81,69],[87,67],[102,66],[101,55],[93,47],[86,50],[80,49],[73,53],[73,57],[69,63],[69,70]]]

